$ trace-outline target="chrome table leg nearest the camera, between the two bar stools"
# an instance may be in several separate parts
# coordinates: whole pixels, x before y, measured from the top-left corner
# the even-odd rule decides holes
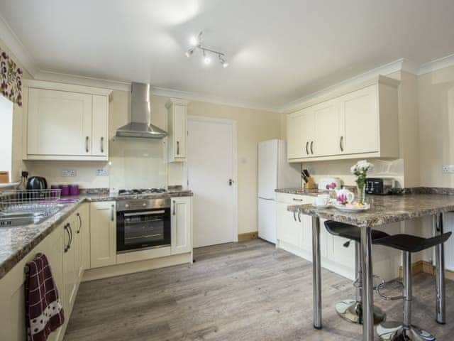
[[[374,340],[374,283],[372,281],[372,229],[361,227],[362,340]]]

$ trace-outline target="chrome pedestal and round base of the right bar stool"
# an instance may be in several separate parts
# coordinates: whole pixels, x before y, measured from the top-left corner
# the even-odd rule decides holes
[[[404,323],[384,322],[377,327],[377,334],[386,341],[436,341],[426,330],[421,330],[411,325],[411,301],[413,301],[411,288],[411,253],[404,251]]]

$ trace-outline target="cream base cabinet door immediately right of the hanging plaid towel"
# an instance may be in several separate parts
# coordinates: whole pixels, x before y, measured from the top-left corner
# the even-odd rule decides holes
[[[74,237],[76,228],[74,220],[69,219],[63,224],[63,286],[65,288],[66,308],[70,311],[76,298],[76,247]]]

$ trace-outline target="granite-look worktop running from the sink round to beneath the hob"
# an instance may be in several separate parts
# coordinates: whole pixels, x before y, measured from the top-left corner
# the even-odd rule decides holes
[[[0,279],[13,266],[18,264],[36,245],[54,231],[77,207],[83,202],[114,201],[119,199],[149,199],[162,197],[190,197],[191,190],[169,190],[167,193],[147,195],[121,195],[118,193],[83,194],[78,197],[68,197],[72,202],[62,200],[62,210],[52,215],[40,224],[28,224],[18,227],[0,227]],[[66,198],[65,198],[66,199]]]

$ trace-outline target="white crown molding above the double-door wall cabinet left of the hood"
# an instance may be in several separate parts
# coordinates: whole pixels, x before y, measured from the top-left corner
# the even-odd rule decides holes
[[[84,85],[86,87],[103,87],[110,90],[131,91],[130,82],[120,82],[117,80],[103,80],[102,78],[86,77],[60,73],[53,71],[40,70],[35,75],[36,80],[47,80],[49,82],[69,83],[74,85]]]

